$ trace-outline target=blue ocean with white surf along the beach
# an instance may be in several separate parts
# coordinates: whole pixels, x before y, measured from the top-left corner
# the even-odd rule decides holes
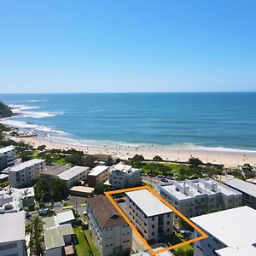
[[[79,143],[256,150],[256,92],[0,94],[2,122]]]

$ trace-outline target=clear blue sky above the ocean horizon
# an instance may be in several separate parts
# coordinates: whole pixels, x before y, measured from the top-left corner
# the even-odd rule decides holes
[[[255,0],[0,2],[0,93],[256,90]]]

